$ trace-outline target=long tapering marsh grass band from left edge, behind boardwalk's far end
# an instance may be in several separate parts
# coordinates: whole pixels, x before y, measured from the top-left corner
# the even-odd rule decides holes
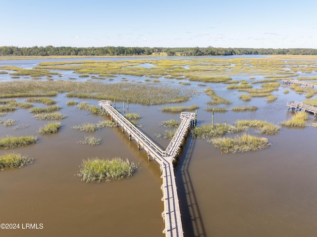
[[[193,88],[183,86],[166,87],[160,84],[75,82],[75,81],[11,81],[3,82],[0,98],[56,96],[67,93],[67,97],[87,99],[111,99],[142,105],[180,103],[198,94]]]

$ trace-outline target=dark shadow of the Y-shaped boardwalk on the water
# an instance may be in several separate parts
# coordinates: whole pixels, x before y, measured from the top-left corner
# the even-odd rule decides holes
[[[185,237],[206,237],[194,186],[188,171],[196,138],[187,137],[182,155],[175,165],[175,178]]]

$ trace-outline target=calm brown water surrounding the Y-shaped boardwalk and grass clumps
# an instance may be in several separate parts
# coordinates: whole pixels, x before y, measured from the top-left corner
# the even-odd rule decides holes
[[[238,93],[226,95],[221,85],[211,86],[217,95],[230,100],[238,97]],[[286,102],[304,98],[293,92],[281,92],[277,92],[279,98],[273,103],[266,103],[264,98],[252,99],[249,105],[257,105],[256,112],[216,113],[215,123],[233,123],[242,118],[281,122],[293,115]],[[163,237],[158,163],[148,162],[146,153],[137,150],[135,142],[129,142],[116,128],[95,133],[103,139],[101,145],[79,144],[90,134],[75,131],[71,126],[97,123],[106,117],[67,107],[64,95],[54,99],[62,106],[61,113],[68,115],[61,121],[61,131],[39,136],[34,145],[0,150],[0,154],[16,151],[35,159],[29,166],[0,171],[0,223],[19,223],[20,227],[42,223],[43,229],[0,230],[0,236]],[[198,125],[211,122],[211,113],[203,110],[207,99],[200,95],[182,104],[201,106]],[[98,104],[97,100],[85,101]],[[234,103],[230,106],[244,102]],[[179,119],[179,114],[161,113],[160,107],[130,104],[129,112],[141,114],[142,130],[166,147],[169,141],[154,138],[154,134],[165,130],[159,126],[161,121]],[[0,127],[0,137],[38,135],[39,127],[47,123],[34,120],[26,109],[0,119],[9,118],[28,127],[17,131]],[[316,119],[310,115],[308,123],[313,121]],[[249,133],[254,135],[252,130]],[[185,236],[317,236],[316,133],[309,126],[282,128],[278,135],[264,136],[272,143],[269,148],[243,154],[221,154],[206,140],[189,137],[176,168]],[[96,156],[128,158],[140,163],[140,169],[129,179],[99,184],[82,182],[76,176],[81,161]]]

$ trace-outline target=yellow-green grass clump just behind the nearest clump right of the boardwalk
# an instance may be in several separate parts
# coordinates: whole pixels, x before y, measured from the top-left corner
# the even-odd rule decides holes
[[[239,120],[235,123],[235,126],[256,128],[259,129],[257,132],[265,135],[274,135],[280,130],[280,126],[261,120]]]

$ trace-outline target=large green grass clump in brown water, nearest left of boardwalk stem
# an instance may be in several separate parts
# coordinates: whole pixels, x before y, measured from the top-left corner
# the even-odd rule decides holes
[[[122,160],[115,157],[111,160],[88,158],[83,160],[80,165],[78,176],[82,181],[86,182],[101,182],[102,180],[111,181],[128,178],[137,169],[134,162]]]

